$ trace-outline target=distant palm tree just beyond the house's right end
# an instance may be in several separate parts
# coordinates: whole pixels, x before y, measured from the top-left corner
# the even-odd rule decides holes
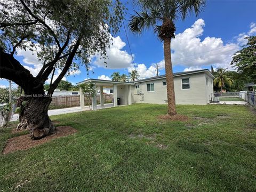
[[[222,93],[223,87],[225,84],[228,86],[232,85],[233,80],[227,75],[226,69],[218,68],[215,74],[215,79],[213,80],[214,85],[217,85],[220,88],[220,92]]]

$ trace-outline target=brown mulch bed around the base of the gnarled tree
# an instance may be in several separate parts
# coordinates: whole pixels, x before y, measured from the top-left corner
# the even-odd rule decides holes
[[[7,141],[6,146],[3,150],[3,154],[11,153],[17,150],[29,149],[31,147],[35,147],[45,142],[51,141],[52,139],[65,137],[76,132],[77,130],[75,130],[73,127],[59,126],[56,128],[56,132],[54,134],[39,140],[30,139],[29,134],[14,137]]]

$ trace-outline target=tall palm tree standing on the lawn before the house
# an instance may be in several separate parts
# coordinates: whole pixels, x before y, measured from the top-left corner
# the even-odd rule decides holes
[[[137,0],[135,5],[141,12],[132,15],[129,28],[134,34],[143,29],[154,27],[154,32],[164,42],[164,62],[167,84],[168,114],[175,115],[175,94],[171,61],[171,39],[175,37],[174,21],[185,18],[195,12],[196,15],[205,5],[205,0]]]

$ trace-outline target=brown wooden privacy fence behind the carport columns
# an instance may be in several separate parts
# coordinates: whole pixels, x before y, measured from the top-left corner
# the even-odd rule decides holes
[[[113,94],[104,94],[103,99],[105,103],[110,103],[112,102]],[[99,103],[100,95],[97,95],[97,104]],[[89,101],[86,97],[84,97],[84,105],[91,105],[91,101]],[[77,106],[80,106],[80,95],[59,95],[52,97],[50,109],[60,109]]]

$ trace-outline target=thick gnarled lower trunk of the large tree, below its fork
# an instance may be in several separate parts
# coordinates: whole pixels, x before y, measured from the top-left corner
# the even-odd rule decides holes
[[[28,129],[31,139],[41,139],[51,135],[55,131],[55,126],[47,114],[48,107],[51,103],[51,97],[46,95],[33,95],[33,97],[19,98],[20,123],[17,130]]]

